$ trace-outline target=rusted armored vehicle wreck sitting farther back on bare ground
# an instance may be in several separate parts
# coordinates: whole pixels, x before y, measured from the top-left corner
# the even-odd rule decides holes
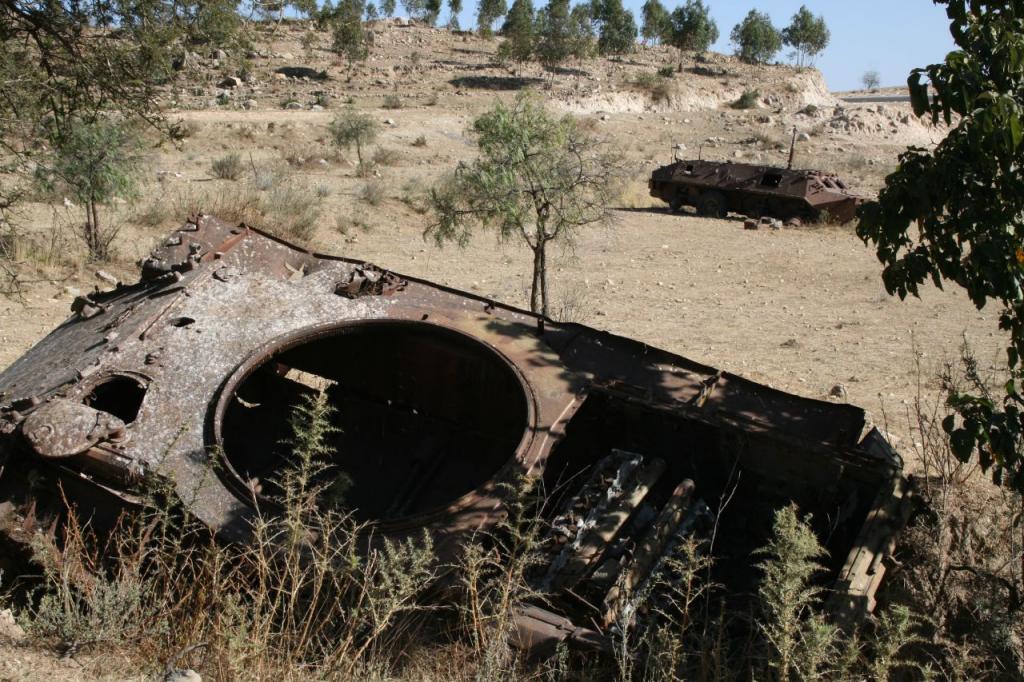
[[[677,161],[655,170],[649,186],[673,211],[692,206],[714,218],[740,213],[842,224],[853,220],[864,202],[831,173],[728,161]]]

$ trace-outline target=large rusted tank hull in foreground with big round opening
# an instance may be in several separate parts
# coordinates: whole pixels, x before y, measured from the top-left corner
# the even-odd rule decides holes
[[[9,484],[19,462],[95,508],[136,503],[148,474],[244,542],[313,390],[337,408],[346,502],[376,534],[427,528],[451,548],[502,517],[502,481],[543,478],[537,581],[555,598],[520,616],[535,648],[600,645],[622,600],[712,526],[716,579],[749,589],[751,551],[794,501],[853,616],[905,511],[900,459],[855,407],[202,215],[0,374],[0,510],[30,495]]]

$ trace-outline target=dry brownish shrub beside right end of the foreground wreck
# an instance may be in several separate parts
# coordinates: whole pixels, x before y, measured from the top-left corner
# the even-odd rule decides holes
[[[991,396],[1005,379],[983,376],[965,342],[939,371],[940,391],[916,352],[918,396],[901,418],[921,463],[924,507],[902,535],[887,590],[925,616],[923,655],[947,679],[1020,679],[1024,675],[1024,504],[979,470],[977,454],[956,459],[942,427],[945,396],[967,390]],[[998,367],[995,364],[994,367]],[[934,395],[934,397],[933,397]]]

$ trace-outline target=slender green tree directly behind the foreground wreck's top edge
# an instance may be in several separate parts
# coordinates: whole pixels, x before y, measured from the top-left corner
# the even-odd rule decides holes
[[[465,245],[478,227],[521,241],[534,254],[530,309],[549,310],[548,246],[610,218],[614,157],[571,116],[556,118],[530,93],[499,102],[473,122],[480,157],[431,190],[438,244]]]

